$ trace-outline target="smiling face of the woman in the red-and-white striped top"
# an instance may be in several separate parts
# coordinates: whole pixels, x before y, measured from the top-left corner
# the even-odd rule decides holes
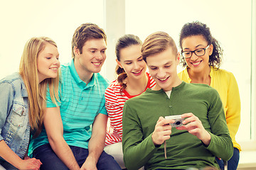
[[[128,79],[141,79],[146,72],[146,62],[142,59],[142,45],[131,45],[119,52],[119,67],[124,69]]]

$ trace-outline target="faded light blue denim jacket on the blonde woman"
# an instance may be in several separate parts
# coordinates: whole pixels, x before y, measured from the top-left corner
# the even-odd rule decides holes
[[[30,125],[28,92],[20,74],[0,80],[0,98],[0,141],[22,159],[28,148]]]

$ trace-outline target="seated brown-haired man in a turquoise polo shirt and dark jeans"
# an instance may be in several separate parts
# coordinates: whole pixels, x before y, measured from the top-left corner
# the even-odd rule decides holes
[[[43,130],[31,141],[41,170],[121,169],[103,151],[107,127],[105,89],[108,81],[99,72],[105,62],[107,38],[92,23],[82,24],[72,40],[73,59],[61,66],[58,106],[50,97]]]

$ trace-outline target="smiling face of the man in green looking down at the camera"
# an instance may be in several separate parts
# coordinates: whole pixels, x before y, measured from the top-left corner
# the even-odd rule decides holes
[[[179,55],[174,54],[171,47],[157,55],[146,57],[149,74],[156,81],[156,90],[170,91],[181,83],[177,74],[179,59]]]

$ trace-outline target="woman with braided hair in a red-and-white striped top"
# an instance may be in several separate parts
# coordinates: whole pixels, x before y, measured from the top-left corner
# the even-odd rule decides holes
[[[117,80],[105,91],[106,108],[109,115],[105,152],[111,154],[124,168],[122,154],[122,111],[124,102],[142,94],[156,83],[146,72],[142,59],[142,41],[136,35],[124,35],[117,41]]]

